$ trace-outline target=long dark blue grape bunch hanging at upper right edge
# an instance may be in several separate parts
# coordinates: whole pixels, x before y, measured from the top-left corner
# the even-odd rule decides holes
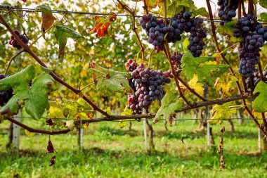
[[[264,42],[267,40],[267,27],[263,27],[256,16],[247,14],[237,20],[233,30],[234,37],[242,37],[243,47],[239,51],[239,72],[245,77],[250,77],[257,72],[256,64],[259,63],[259,51]]]

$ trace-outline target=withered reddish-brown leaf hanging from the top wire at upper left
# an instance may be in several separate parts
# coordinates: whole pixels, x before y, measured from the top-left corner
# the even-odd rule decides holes
[[[46,39],[45,32],[50,28],[56,18],[53,16],[51,9],[47,6],[41,5],[35,8],[35,11],[41,10],[41,34]]]

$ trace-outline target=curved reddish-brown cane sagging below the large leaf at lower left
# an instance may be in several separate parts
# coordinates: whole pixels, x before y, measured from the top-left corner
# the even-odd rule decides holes
[[[49,135],[56,135],[56,134],[67,134],[67,132],[70,132],[70,129],[60,130],[60,131],[47,131],[42,129],[33,129],[32,127],[28,127],[27,125],[22,124],[18,120],[14,120],[11,117],[6,118],[10,122],[13,122],[14,124],[22,127],[23,129],[27,129],[29,132],[39,133],[39,134],[49,134]]]

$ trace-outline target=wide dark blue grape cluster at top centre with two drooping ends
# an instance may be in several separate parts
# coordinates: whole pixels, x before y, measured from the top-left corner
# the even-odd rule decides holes
[[[182,39],[181,34],[183,32],[190,32],[188,49],[193,53],[193,56],[198,57],[202,53],[203,38],[207,37],[207,31],[202,29],[202,19],[191,18],[191,16],[192,13],[181,11],[173,18],[167,19],[167,25],[164,25],[163,19],[148,14],[143,15],[140,24],[149,37],[148,43],[155,46],[157,52],[164,50],[165,41],[175,43]]]

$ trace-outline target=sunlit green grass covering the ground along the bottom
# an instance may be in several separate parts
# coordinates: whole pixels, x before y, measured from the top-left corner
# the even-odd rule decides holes
[[[219,170],[216,153],[221,125],[212,126],[216,146],[207,148],[206,134],[193,132],[196,123],[181,121],[168,132],[162,124],[153,126],[155,151],[150,154],[144,151],[143,122],[133,122],[132,131],[119,129],[117,122],[91,124],[84,133],[84,151],[79,151],[76,132],[51,136],[58,151],[54,167],[48,166],[52,155],[45,154],[48,136],[28,138],[21,130],[20,153],[11,153],[2,129],[0,177],[267,177],[267,153],[256,153],[258,130],[252,121],[235,122],[233,133],[225,122],[225,170]],[[0,127],[8,127],[8,122]]]

